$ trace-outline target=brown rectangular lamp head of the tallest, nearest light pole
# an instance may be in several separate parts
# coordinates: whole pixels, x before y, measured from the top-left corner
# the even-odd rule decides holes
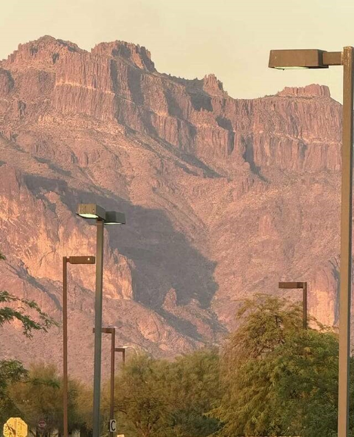
[[[323,63],[324,50],[270,50],[269,67],[277,69],[328,68]]]

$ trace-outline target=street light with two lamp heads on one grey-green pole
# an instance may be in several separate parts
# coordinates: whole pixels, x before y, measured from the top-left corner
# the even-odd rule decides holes
[[[77,215],[86,219],[95,219],[96,238],[96,291],[95,291],[95,356],[94,356],[94,393],[93,393],[93,437],[99,437],[100,397],[101,397],[101,346],[102,346],[102,282],[103,282],[103,226],[124,225],[122,212],[105,211],[94,203],[77,205]]]

